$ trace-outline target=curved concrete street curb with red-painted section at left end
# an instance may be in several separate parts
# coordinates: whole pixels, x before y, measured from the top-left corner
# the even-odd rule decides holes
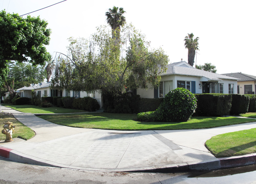
[[[179,164],[168,164],[150,167],[138,167],[138,168],[122,168],[122,169],[104,169],[104,168],[88,168],[70,166],[64,164],[58,164],[49,160],[40,159],[37,157],[25,155],[17,152],[13,149],[5,148],[0,146],[0,156],[8,158],[16,162],[29,163],[35,165],[49,166],[49,167],[60,167],[70,169],[81,169],[81,170],[92,170],[92,171],[109,171],[109,172],[186,172],[186,171],[206,171],[206,170],[217,170],[232,167],[241,167],[247,165],[256,164],[256,153],[224,157],[224,158],[211,158],[206,160],[198,160],[193,162],[185,162]]]

